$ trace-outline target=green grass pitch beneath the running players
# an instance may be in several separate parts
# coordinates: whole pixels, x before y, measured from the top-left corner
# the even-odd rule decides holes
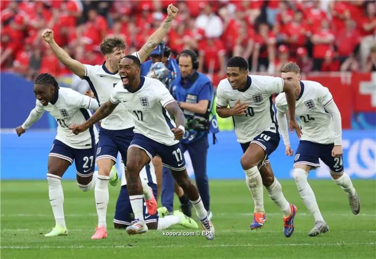
[[[1,258],[375,258],[375,180],[354,180],[361,213],[354,216],[346,194],[331,180],[312,180],[318,205],[330,231],[308,237],[314,220],[293,180],[280,181],[288,201],[296,204],[295,232],[283,235],[282,213],[264,191],[267,223],[250,231],[253,202],[244,181],[210,182],[215,240],[166,237],[162,231],[129,236],[112,223],[119,186],[111,187],[108,238],[91,240],[97,223],[94,191],[83,193],[75,181],[62,181],[68,236],[44,237],[55,225],[47,181],[2,181]],[[174,203],[177,208],[179,202]],[[167,232],[191,232],[180,226]]]

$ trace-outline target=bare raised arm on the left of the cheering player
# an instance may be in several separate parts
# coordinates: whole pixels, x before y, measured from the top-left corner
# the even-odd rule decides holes
[[[62,49],[53,38],[53,30],[45,29],[42,32],[42,38],[45,42],[49,43],[52,51],[55,53],[56,57],[63,63],[69,70],[75,73],[80,78],[83,78],[86,73],[85,66],[77,60],[74,60],[70,55]]]

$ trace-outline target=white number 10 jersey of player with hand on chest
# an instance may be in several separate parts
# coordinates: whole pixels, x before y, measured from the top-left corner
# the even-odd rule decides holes
[[[283,85],[282,78],[249,75],[245,91],[239,91],[231,88],[227,78],[220,81],[217,88],[218,107],[233,107],[238,99],[248,104],[246,115],[232,117],[238,142],[252,141],[264,130],[278,132],[272,95],[281,93]]]

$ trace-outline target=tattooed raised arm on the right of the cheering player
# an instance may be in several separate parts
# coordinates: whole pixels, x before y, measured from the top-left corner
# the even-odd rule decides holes
[[[167,7],[167,18],[162,22],[162,25],[154,31],[154,33],[147,39],[147,42],[138,51],[141,62],[145,61],[149,57],[150,53],[161,42],[163,37],[167,34],[168,29],[171,27],[171,22],[177,15],[177,9],[173,4],[169,4]]]

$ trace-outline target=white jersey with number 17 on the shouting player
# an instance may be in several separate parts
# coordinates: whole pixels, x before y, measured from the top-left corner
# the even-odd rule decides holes
[[[124,105],[132,114],[135,133],[168,146],[179,143],[171,132],[176,124],[164,108],[175,99],[159,80],[141,76],[140,87],[135,93],[126,90],[120,81],[112,90],[110,100],[114,104]]]

